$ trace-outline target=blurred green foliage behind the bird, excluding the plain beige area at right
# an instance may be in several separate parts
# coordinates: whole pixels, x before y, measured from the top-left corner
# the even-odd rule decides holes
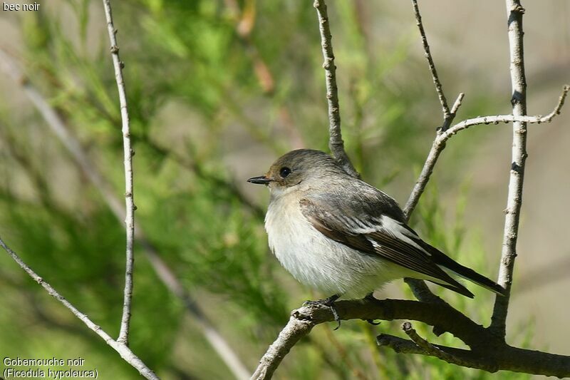
[[[57,11],[46,5],[19,14],[24,46],[18,59],[120,196],[120,110],[99,3],[60,1]],[[398,189],[398,199],[405,201],[441,118],[425,63],[410,57],[418,43],[415,25],[403,26],[398,38],[373,40],[363,17],[365,1],[330,3],[348,154],[365,180],[390,192]],[[277,155],[299,145],[326,150],[315,11],[309,2],[284,0],[125,0],[113,6],[136,151],[137,227],[254,369],[289,310],[318,296],[296,284],[270,255],[259,215],[264,201],[258,193],[242,194],[244,178],[238,176],[262,173]],[[379,23],[383,17],[366,19]],[[491,102],[472,95],[462,114],[482,114]],[[0,123],[0,235],[73,304],[118,334],[122,224],[30,104],[0,108]],[[482,136],[474,131],[471,143]],[[469,145],[452,145],[445,155],[453,162],[430,183],[413,222],[427,241],[450,255],[461,252],[462,263],[490,274],[494,269],[485,265],[477,239],[464,238],[462,201],[439,201],[437,183],[463,183],[455,190],[468,191],[465,180],[455,177]],[[445,217],[446,212],[455,216]],[[164,379],[231,379],[180,301],[157,279],[141,247],[137,252],[133,351]],[[101,379],[138,378],[6,255],[0,255],[0,289],[5,356],[81,356],[85,369],[97,368]],[[492,296],[470,289],[475,302],[435,290],[488,323]],[[414,326],[435,343],[460,344],[447,334],[433,337],[420,323]],[[375,346],[380,331],[399,330],[400,322],[379,327],[345,322],[336,332],[318,327],[293,349],[276,377],[490,376]]]

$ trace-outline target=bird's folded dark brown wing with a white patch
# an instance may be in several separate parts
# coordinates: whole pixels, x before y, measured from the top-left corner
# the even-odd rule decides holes
[[[378,196],[383,195],[385,194],[379,192]],[[392,198],[390,200],[395,204]],[[306,219],[326,237],[358,250],[364,255],[379,256],[425,274],[434,279],[432,282],[467,297],[473,297],[467,288],[450,277],[437,263],[440,255],[452,262],[453,260],[423,242],[410,227],[405,225],[400,215],[393,215],[390,212],[393,205],[387,209],[385,199],[380,200],[373,194],[368,194],[366,202],[363,202],[360,197],[338,197],[338,194],[331,193],[306,197],[300,201],[300,205]],[[341,210],[351,210],[351,213],[358,217],[347,216]],[[432,248],[433,251],[426,250],[425,246]],[[437,252],[437,257],[433,257],[434,252]]]

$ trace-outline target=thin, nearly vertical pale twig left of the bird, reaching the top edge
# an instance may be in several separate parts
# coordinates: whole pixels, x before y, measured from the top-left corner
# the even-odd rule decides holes
[[[127,231],[127,250],[126,250],[126,266],[125,266],[125,292],[123,295],[123,317],[120,320],[120,332],[118,342],[129,344],[129,326],[131,304],[133,301],[133,269],[135,265],[135,256],[133,253],[133,243],[135,240],[135,194],[133,188],[133,148],[130,147],[130,128],[129,113],[127,107],[127,91],[125,89],[125,80],[123,78],[123,62],[119,58],[119,46],[117,43],[117,30],[113,26],[113,15],[111,14],[110,0],[103,0],[105,7],[105,17],[107,19],[107,29],[109,32],[109,41],[111,43],[111,56],[113,57],[113,66],[115,68],[115,79],[119,91],[120,118],[123,120],[123,150],[125,164],[125,230]]]

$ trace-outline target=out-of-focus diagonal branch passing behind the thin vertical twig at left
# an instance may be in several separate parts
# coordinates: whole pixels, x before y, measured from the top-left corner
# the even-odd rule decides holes
[[[4,71],[6,71],[11,78],[14,78],[14,81],[20,83],[24,93],[28,96],[31,103],[36,107],[43,119],[46,120],[49,128],[53,130],[53,133],[56,134],[57,138],[69,153],[71,153],[73,160],[75,160],[81,171],[86,175],[86,178],[88,178],[94,188],[101,193],[103,200],[113,212],[113,215],[115,215],[120,222],[123,222],[123,220],[125,220],[125,208],[121,205],[119,198],[115,195],[112,186],[103,178],[102,175],[100,175],[96,165],[91,162],[86,151],[81,146],[81,143],[79,143],[77,138],[73,136],[70,130],[68,130],[67,125],[63,122],[58,113],[51,107],[48,101],[46,101],[46,98],[44,98],[28,81],[28,79],[22,76],[18,66],[13,62],[13,59],[2,49],[0,49],[0,63],[0,66],[4,68]],[[164,260],[162,260],[162,257],[160,257],[156,247],[147,240],[144,232],[142,232],[140,228],[135,230],[135,238],[140,242],[152,269],[154,269],[160,281],[165,284],[170,292],[182,300],[187,312],[197,320],[204,337],[206,337],[209,344],[214,348],[214,351],[216,351],[220,358],[222,358],[229,370],[232,371],[232,374],[234,374],[237,379],[249,379],[250,372],[247,367],[239,360],[239,356],[237,356],[235,351],[232,350],[229,343],[224,339],[224,337],[222,337],[222,334],[217,332],[212,322],[209,322],[209,319],[199,308],[199,305],[192,299],[190,294],[188,294],[186,289],[180,283],[180,280],[177,279],[175,273],[170,269],[170,267],[168,267]]]

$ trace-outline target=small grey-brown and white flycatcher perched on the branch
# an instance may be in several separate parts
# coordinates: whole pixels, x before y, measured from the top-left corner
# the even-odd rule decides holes
[[[269,188],[265,230],[271,252],[299,282],[332,294],[318,301],[329,307],[339,297],[371,297],[401,278],[473,298],[457,281],[461,277],[504,295],[499,284],[422,240],[393,197],[349,175],[320,150],[291,150],[265,175],[247,181]]]

